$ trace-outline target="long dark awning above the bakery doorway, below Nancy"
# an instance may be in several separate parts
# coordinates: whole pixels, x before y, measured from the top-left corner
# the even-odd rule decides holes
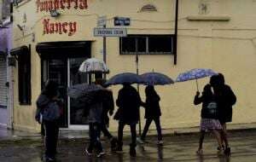
[[[47,42],[38,43],[38,55],[44,59],[63,57],[90,57],[89,41]]]

